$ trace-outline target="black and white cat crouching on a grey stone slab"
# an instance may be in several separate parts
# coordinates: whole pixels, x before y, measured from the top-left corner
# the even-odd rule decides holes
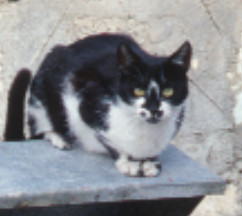
[[[82,146],[110,153],[117,170],[127,176],[159,175],[159,156],[183,119],[191,56],[188,41],[170,56],[158,57],[122,34],[55,46],[29,84],[31,138],[59,149]],[[22,76],[25,86],[30,71],[20,71],[15,83]],[[23,133],[11,136],[6,139],[21,139]]]

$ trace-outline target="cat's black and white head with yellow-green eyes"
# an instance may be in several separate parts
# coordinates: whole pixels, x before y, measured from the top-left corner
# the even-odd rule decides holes
[[[122,100],[133,105],[136,114],[147,122],[158,123],[172,117],[188,95],[186,73],[191,55],[188,41],[172,55],[162,58],[140,56],[121,43],[117,58]]]

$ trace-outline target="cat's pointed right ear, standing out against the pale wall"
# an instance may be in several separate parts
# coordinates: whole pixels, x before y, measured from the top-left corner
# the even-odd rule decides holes
[[[189,41],[185,41],[177,51],[175,51],[170,57],[169,61],[180,67],[184,72],[187,72],[190,67],[192,57],[192,46]]]

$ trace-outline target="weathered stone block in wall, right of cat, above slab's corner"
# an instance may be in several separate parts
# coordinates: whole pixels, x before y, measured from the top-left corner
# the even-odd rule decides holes
[[[234,168],[234,134],[226,130],[180,136],[176,146],[219,174]]]

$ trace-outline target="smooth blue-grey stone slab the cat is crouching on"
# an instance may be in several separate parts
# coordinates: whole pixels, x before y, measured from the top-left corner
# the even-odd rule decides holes
[[[120,174],[105,155],[62,151],[44,141],[0,143],[0,208],[223,193],[223,180],[175,147],[160,160],[158,177],[132,178]]]

